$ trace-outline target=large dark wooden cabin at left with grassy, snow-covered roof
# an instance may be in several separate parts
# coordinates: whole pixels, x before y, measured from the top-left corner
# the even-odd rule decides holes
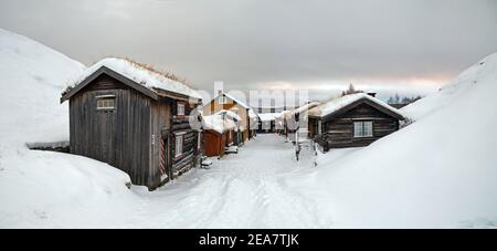
[[[190,112],[201,97],[170,75],[104,59],[67,87],[65,101],[71,153],[117,167],[135,185],[157,188],[200,163],[201,124]]]

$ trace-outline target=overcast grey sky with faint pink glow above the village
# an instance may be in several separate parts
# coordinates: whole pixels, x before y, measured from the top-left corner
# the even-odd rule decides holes
[[[497,51],[497,0],[0,0],[0,27],[86,65],[130,56],[199,88],[415,94]]]

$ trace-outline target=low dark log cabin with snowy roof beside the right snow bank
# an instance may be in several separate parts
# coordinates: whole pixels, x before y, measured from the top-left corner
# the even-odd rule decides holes
[[[325,151],[367,146],[399,130],[404,116],[370,94],[338,97],[308,112],[309,134]]]

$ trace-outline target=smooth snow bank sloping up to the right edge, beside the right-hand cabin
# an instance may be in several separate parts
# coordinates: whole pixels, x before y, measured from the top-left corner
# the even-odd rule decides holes
[[[496,94],[493,54],[406,107],[412,125],[319,166],[336,227],[495,227]]]

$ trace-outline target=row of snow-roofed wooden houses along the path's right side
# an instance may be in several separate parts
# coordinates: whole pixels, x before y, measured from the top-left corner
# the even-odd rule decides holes
[[[311,139],[324,151],[368,146],[399,130],[404,116],[376,98],[374,93],[355,93],[326,102],[309,102],[284,111],[274,118],[277,132],[293,143]]]

